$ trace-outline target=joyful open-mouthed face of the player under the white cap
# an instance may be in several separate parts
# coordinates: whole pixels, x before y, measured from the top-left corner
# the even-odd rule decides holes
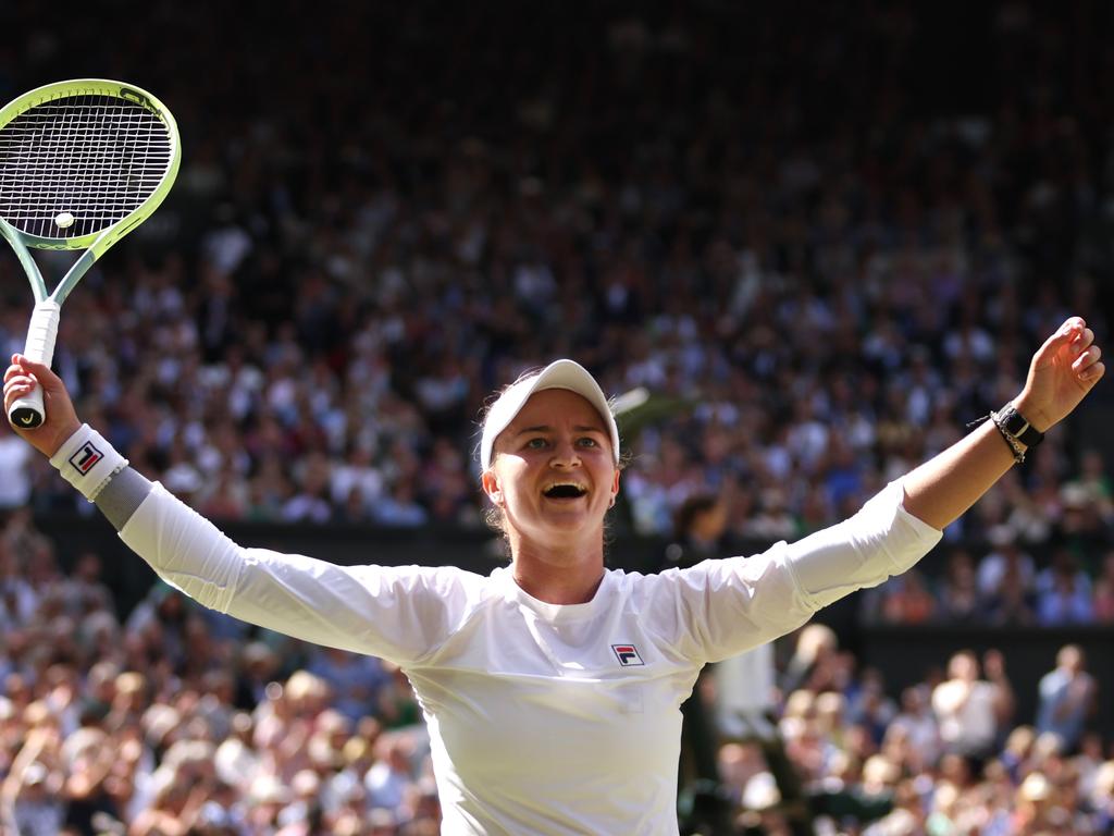
[[[618,493],[610,435],[604,417],[567,389],[530,396],[494,445],[483,489],[499,506],[511,543],[574,547],[599,538]]]

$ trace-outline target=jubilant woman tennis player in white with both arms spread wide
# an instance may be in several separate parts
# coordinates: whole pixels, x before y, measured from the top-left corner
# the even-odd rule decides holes
[[[36,385],[21,432],[168,583],[206,606],[398,663],[421,701],[446,834],[677,834],[681,713],[704,663],[789,632],[913,565],[1103,376],[1067,320],[1018,397],[849,519],[753,557],[643,576],[604,567],[619,438],[599,386],[558,360],[487,414],[482,485],[509,566],[336,566],[244,548],[82,425],[61,381],[16,356],[6,407]]]

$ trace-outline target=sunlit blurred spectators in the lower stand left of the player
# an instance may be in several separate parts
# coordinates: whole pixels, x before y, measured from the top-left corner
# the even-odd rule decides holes
[[[373,658],[248,635],[159,584],[117,614],[100,557],[0,535],[0,834],[433,836],[428,736]]]

